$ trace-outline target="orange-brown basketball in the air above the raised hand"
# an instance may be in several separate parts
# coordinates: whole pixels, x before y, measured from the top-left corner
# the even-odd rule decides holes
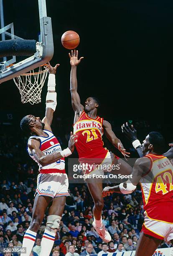
[[[66,31],[61,36],[61,43],[62,45],[69,50],[75,49],[80,42],[79,35],[75,31]]]

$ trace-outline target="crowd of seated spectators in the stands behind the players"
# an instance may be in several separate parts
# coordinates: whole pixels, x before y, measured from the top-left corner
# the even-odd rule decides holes
[[[0,134],[0,251],[20,248],[33,212],[38,168],[26,154],[27,138]],[[142,228],[143,203],[140,186],[130,195],[112,194],[104,198],[103,223],[112,241],[103,243],[92,227],[93,200],[86,184],[70,184],[53,256],[113,253],[136,249]],[[31,256],[39,256],[46,227],[45,214]],[[170,244],[161,243],[161,248]],[[5,254],[0,254],[5,255]],[[13,253],[13,256],[17,256]]]

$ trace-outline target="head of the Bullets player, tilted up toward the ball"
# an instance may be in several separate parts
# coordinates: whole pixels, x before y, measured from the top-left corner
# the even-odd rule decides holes
[[[41,122],[39,117],[35,117],[34,115],[26,115],[20,121],[20,128],[29,135],[33,133],[35,129],[43,130],[44,123]]]

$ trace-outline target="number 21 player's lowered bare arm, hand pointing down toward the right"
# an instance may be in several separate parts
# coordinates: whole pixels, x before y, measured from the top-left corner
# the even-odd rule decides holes
[[[112,145],[118,148],[118,150],[121,152],[123,156],[129,157],[128,155],[130,153],[126,152],[126,149],[122,145],[122,142],[120,141],[120,139],[115,136],[114,132],[112,131],[111,124],[106,120],[103,120],[103,127],[104,127],[104,133],[107,136],[108,140],[112,143]]]

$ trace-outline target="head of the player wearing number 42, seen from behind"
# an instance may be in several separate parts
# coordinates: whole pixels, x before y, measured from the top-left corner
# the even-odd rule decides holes
[[[163,154],[165,148],[165,139],[158,132],[150,132],[142,144],[142,152],[154,152],[156,154]]]

